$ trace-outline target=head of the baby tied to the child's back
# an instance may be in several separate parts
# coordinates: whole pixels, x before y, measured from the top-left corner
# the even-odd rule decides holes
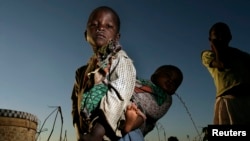
[[[163,65],[157,68],[151,76],[151,81],[161,87],[167,94],[173,95],[183,80],[181,70],[173,65]]]

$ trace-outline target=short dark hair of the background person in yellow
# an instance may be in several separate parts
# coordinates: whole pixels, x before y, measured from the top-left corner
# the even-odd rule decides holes
[[[210,29],[209,29],[209,37],[211,36],[212,31],[217,31],[221,33],[225,33],[228,37],[227,39],[230,41],[232,40],[232,34],[230,31],[229,26],[226,23],[223,22],[217,22],[215,23]]]

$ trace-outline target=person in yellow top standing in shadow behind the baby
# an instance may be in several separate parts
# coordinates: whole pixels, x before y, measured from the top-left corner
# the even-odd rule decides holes
[[[201,53],[216,88],[216,125],[250,124],[250,54],[229,46],[231,40],[229,26],[215,23],[209,30],[211,49]]]

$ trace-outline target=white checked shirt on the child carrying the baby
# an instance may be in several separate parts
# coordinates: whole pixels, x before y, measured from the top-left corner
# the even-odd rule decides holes
[[[108,92],[103,96],[100,109],[117,136],[122,136],[119,122],[124,118],[126,106],[134,92],[136,70],[132,59],[124,50],[112,57],[110,72],[105,78]]]

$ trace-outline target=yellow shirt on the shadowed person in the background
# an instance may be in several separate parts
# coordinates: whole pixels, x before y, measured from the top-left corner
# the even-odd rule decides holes
[[[211,74],[215,87],[216,97],[223,95],[228,90],[239,85],[250,84],[250,55],[239,49],[229,47],[230,60],[227,60],[228,67],[218,69],[211,67],[215,59],[215,53],[211,50],[203,51],[201,54],[202,64]]]

